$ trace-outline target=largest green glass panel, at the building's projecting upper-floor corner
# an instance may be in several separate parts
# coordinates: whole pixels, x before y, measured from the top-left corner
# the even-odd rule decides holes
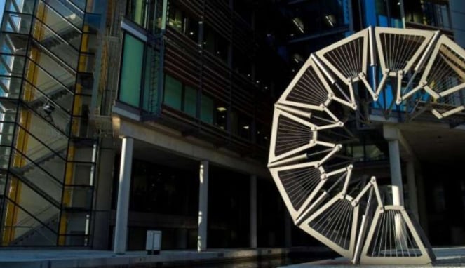
[[[126,34],[121,67],[119,100],[139,106],[144,43]]]

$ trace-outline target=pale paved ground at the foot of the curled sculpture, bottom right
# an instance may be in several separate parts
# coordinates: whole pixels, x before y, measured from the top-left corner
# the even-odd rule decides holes
[[[360,267],[465,267],[465,247],[457,248],[433,248],[436,261],[429,265],[358,265]],[[316,268],[316,267],[338,267],[353,268],[358,267],[343,257],[316,262],[306,262],[302,264],[292,264],[281,268]]]

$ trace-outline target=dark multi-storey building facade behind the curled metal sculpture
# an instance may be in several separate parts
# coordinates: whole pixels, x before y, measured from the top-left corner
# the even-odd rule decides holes
[[[404,2],[7,0],[2,246],[121,253],[143,249],[147,229],[162,230],[162,248],[315,245],[292,227],[266,168],[274,101],[310,53],[354,30],[460,34],[452,3]],[[452,219],[464,180],[434,178],[454,177],[442,148],[463,159],[452,144],[460,118],[406,124],[405,107],[365,108],[346,152],[357,172],[389,184],[383,130],[400,129],[405,182],[413,168],[419,188],[405,187],[406,202],[418,192],[422,225],[443,228],[433,244],[463,237],[463,219],[440,218]]]

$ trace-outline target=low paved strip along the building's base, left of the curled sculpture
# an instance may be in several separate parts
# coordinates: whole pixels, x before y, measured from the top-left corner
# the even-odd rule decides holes
[[[290,252],[309,252],[328,256],[327,248],[259,248],[215,249],[198,253],[194,250],[162,250],[159,255],[145,251],[130,251],[115,255],[105,250],[17,250],[0,249],[0,267],[66,268],[66,267],[165,267],[194,265],[227,260],[276,257]]]

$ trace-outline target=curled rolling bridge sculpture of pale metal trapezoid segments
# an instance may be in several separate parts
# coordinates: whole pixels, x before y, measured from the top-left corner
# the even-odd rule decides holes
[[[276,102],[268,163],[295,225],[354,263],[434,260],[405,208],[384,204],[375,177],[352,177],[342,153],[353,139],[346,123],[366,102],[387,116],[406,103],[407,114],[457,116],[464,55],[439,32],[370,27],[306,60]]]

